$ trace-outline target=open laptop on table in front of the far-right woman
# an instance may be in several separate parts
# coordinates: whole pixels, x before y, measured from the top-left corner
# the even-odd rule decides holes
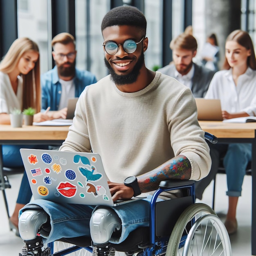
[[[220,99],[195,98],[199,121],[222,121]]]

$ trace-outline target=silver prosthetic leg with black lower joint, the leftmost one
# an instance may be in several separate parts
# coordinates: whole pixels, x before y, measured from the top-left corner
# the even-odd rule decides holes
[[[42,252],[43,237],[47,237],[51,230],[49,216],[42,208],[27,209],[19,218],[20,237],[26,244],[19,256],[48,256],[49,248]],[[43,236],[43,237],[42,237]]]

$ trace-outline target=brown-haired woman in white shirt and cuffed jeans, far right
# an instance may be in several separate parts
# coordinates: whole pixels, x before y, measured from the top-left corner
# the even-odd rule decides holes
[[[205,98],[220,99],[223,119],[256,116],[256,59],[249,34],[242,30],[229,34],[225,44],[225,56],[224,70],[213,76]],[[229,234],[233,234],[237,230],[236,207],[246,166],[252,159],[252,146],[218,145],[218,152],[225,153],[223,164],[227,173],[229,196],[225,226]],[[216,173],[217,170],[211,172]]]

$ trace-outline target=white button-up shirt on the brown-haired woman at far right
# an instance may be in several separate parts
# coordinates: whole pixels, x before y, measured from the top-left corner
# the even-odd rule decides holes
[[[256,70],[248,67],[238,77],[237,85],[232,76],[232,68],[216,72],[204,98],[220,99],[222,110],[229,113],[246,112],[256,116]]]

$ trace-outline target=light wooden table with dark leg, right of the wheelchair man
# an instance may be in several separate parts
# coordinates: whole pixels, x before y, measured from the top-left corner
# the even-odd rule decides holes
[[[252,255],[256,255],[256,122],[246,124],[200,121],[205,132],[218,137],[220,143],[252,144]]]

